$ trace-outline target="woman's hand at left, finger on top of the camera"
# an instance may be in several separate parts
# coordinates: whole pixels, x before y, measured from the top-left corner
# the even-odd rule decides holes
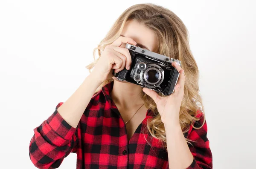
[[[99,80],[104,82],[113,77],[112,69],[119,72],[122,69],[130,69],[131,54],[127,48],[126,43],[136,45],[137,43],[130,37],[118,37],[111,45],[105,47],[101,57],[93,68],[91,74]]]

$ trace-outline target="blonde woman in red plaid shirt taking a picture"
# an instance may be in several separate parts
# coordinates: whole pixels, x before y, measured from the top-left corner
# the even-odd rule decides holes
[[[113,69],[131,69],[126,43],[181,61],[172,63],[180,73],[174,93],[113,77]],[[34,129],[32,163],[58,168],[75,152],[77,169],[212,169],[198,66],[180,18],[151,3],[131,6],[96,49],[90,75]]]

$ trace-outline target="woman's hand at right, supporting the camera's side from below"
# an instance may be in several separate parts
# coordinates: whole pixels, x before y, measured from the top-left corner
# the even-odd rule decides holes
[[[157,92],[143,88],[148,96],[150,96],[157,104],[157,110],[161,115],[162,122],[166,125],[180,125],[180,105],[184,96],[185,75],[184,70],[176,62],[172,63],[180,73],[174,92],[167,96],[161,97]]]

